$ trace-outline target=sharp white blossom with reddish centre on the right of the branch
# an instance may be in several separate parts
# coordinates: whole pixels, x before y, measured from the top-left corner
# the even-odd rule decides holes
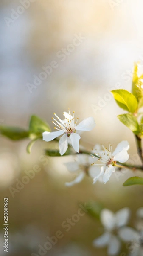
[[[105,148],[102,145],[103,150],[95,148],[95,154],[98,154],[98,163],[93,163],[97,166],[97,172],[99,166],[101,166],[100,173],[94,177],[93,183],[97,180],[102,179],[104,184],[107,183],[110,176],[115,172],[115,163],[116,161],[124,163],[129,159],[129,154],[127,150],[129,149],[129,143],[126,140],[123,140],[119,143],[114,152],[112,152],[112,145],[109,144],[109,149]]]

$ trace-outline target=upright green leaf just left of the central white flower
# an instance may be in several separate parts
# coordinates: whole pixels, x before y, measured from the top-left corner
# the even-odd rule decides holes
[[[44,131],[51,131],[47,122],[41,120],[38,116],[31,116],[29,123],[31,133],[41,134]]]

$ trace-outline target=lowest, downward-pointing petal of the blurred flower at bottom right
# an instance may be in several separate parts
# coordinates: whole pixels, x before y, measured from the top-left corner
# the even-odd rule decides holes
[[[121,248],[120,240],[116,236],[112,235],[109,241],[108,255],[110,256],[118,255],[120,248]]]

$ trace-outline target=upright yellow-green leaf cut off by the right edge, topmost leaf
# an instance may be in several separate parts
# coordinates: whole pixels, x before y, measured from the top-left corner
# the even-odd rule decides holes
[[[139,108],[141,108],[143,106],[143,82],[141,81],[141,79],[143,79],[143,76],[138,77],[137,72],[138,63],[135,63],[132,78],[132,93],[139,102]]]

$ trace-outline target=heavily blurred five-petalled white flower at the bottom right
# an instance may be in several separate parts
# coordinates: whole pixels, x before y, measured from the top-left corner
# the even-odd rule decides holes
[[[138,235],[131,227],[125,227],[129,221],[129,215],[129,208],[123,208],[116,213],[108,209],[103,209],[101,211],[101,223],[105,228],[105,233],[93,241],[93,246],[108,246],[108,255],[117,255],[121,248],[120,239],[129,242]]]

